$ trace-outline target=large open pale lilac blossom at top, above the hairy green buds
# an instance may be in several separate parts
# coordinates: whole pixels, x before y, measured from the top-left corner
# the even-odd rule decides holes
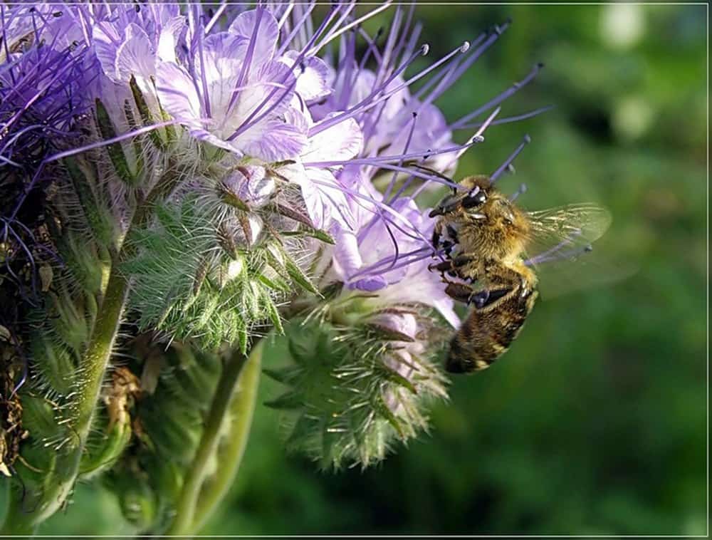
[[[187,68],[159,65],[162,105],[194,137],[237,155],[266,162],[298,156],[305,124],[291,110],[296,76],[274,58],[278,35],[276,19],[263,8],[239,14],[226,32],[196,31]]]

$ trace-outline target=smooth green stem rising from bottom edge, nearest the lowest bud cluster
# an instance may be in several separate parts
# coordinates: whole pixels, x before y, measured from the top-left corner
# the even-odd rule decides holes
[[[229,489],[239,469],[252,424],[260,375],[262,343],[249,358],[234,351],[221,373],[198,450],[188,469],[176,504],[176,514],[165,534],[192,534],[208,519]],[[230,418],[229,418],[230,417]],[[229,433],[224,428],[229,420]],[[226,436],[227,444],[219,449]],[[219,452],[219,470],[208,479]]]

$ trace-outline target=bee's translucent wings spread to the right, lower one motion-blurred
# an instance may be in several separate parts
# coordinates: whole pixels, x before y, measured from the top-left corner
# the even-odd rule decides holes
[[[538,289],[552,298],[590,286],[609,284],[634,273],[593,246],[610,227],[610,212],[597,204],[570,204],[529,213],[531,233],[525,264],[537,272]]]

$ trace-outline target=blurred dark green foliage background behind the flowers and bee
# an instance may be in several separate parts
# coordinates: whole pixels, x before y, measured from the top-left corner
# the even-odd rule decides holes
[[[278,415],[258,408],[204,534],[706,534],[706,6],[416,15],[430,58],[513,19],[439,101],[449,120],[546,64],[502,116],[556,108],[488,130],[456,177],[492,172],[529,133],[503,189],[526,182],[530,209],[604,204],[604,253],[637,274],[540,301],[506,357],[454,379],[431,433],[375,469],[326,474],[285,455]],[[122,530],[110,494],[85,485],[41,533]]]

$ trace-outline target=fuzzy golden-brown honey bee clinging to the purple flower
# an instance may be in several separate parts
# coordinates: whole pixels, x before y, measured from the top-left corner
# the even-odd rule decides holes
[[[464,191],[430,212],[438,218],[432,243],[445,257],[430,269],[441,272],[446,294],[472,306],[445,363],[450,373],[471,373],[488,368],[521,330],[538,297],[533,266],[591,251],[611,219],[595,204],[526,212],[486,176],[460,185]]]

